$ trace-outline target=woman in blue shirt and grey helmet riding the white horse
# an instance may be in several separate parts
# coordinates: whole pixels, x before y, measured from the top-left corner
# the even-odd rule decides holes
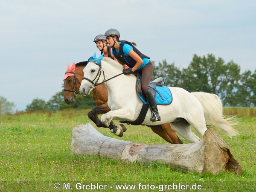
[[[108,29],[105,32],[105,37],[107,38],[108,45],[113,47],[112,53],[118,62],[128,65],[129,68],[124,69],[123,73],[125,75],[133,73],[139,73],[141,75],[142,91],[153,113],[150,120],[152,122],[160,121],[161,118],[157,110],[157,104],[150,89],[148,89],[148,84],[153,75],[153,64],[149,60],[150,58],[141,53],[132,43],[120,41],[120,33],[116,29]]]

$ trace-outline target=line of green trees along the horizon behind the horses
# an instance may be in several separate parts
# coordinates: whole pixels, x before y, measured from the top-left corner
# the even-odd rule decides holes
[[[214,93],[221,98],[226,107],[256,106],[256,70],[254,72],[246,70],[241,73],[239,64],[234,61],[225,63],[222,58],[215,58],[212,54],[202,57],[194,55],[186,68],[177,67],[175,63],[163,60],[158,65],[154,64],[151,80],[157,77],[163,77],[165,85],[169,87],[182,87],[189,92]],[[64,103],[63,92],[59,91],[49,101],[33,99],[26,106],[26,111],[56,111],[94,106],[92,95],[86,98],[79,95],[75,103],[67,105]]]

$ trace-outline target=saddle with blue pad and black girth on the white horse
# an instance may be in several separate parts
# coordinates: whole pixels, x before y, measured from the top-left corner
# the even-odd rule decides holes
[[[140,98],[140,100],[143,102],[143,106],[140,110],[139,116],[134,122],[122,121],[123,123],[131,124],[131,125],[140,125],[144,121],[146,113],[149,108],[148,102],[146,101],[146,98],[141,89],[141,80],[140,80],[141,77],[138,74],[136,74],[136,76],[137,76],[136,93],[137,93],[137,96]],[[148,87],[151,90],[151,93],[153,94],[157,105],[170,105],[172,103],[172,93],[168,87],[164,86],[162,77],[159,77],[154,81],[150,81],[150,83],[148,84]]]

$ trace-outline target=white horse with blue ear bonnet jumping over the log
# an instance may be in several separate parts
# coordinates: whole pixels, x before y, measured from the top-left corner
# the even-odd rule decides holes
[[[101,121],[106,126],[110,125],[113,118],[134,121],[143,105],[135,92],[136,77],[120,75],[122,70],[122,65],[110,58],[103,58],[101,64],[88,62],[84,67],[84,78],[80,86],[81,95],[89,95],[98,82],[104,81],[108,89],[108,106],[111,111],[101,117]],[[230,137],[238,134],[231,127],[232,122],[229,124],[223,118],[222,112],[220,115],[219,109],[221,107],[222,111],[222,104],[218,96],[210,93],[202,94],[202,92],[189,93],[180,87],[169,87],[169,89],[172,92],[172,103],[157,106],[161,121],[151,122],[151,111],[148,109],[143,125],[170,123],[174,131],[191,143],[198,142],[200,138],[191,131],[190,125],[203,137],[207,130],[206,120],[209,125],[217,125]],[[213,99],[215,96],[218,99]],[[209,100],[210,98],[212,100]]]

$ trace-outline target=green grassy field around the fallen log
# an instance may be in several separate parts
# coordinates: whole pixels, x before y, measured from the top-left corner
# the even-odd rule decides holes
[[[228,110],[228,109],[227,109]],[[250,110],[249,110],[250,111]],[[124,163],[107,158],[77,156],[71,153],[72,129],[76,125],[91,122],[86,110],[58,111],[56,113],[32,113],[6,115],[0,121],[0,191],[57,191],[54,183],[70,183],[68,191],[76,191],[76,183],[108,185],[103,191],[139,191],[114,189],[115,184],[139,183],[140,191],[161,190],[160,185],[195,183],[201,191],[256,191],[256,117],[239,118],[236,127],[240,135],[232,139],[221,137],[242,166],[241,175],[222,172],[219,175],[198,174],[172,170],[168,166],[152,163]],[[91,122],[92,123],[92,122]],[[93,124],[93,123],[92,123]],[[94,124],[93,124],[94,125]],[[146,126],[127,126],[123,137],[111,134],[108,129],[97,128],[102,134],[137,143],[167,144]],[[183,143],[188,143],[180,137]],[[146,185],[149,184],[149,188]],[[150,185],[159,186],[150,189]],[[153,188],[153,186],[151,186]],[[143,190],[144,189],[144,190]],[[66,190],[65,190],[66,191]],[[176,190],[181,191],[181,190]],[[185,190],[186,191],[186,190]],[[191,191],[191,190],[188,190]],[[195,190],[199,191],[199,190]]]

